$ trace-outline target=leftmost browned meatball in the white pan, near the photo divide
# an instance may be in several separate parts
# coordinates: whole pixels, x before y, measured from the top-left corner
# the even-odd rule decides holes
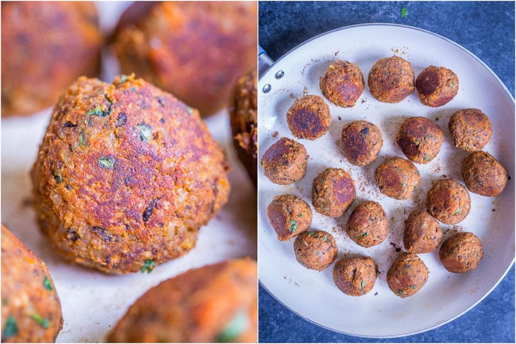
[[[307,172],[308,157],[301,143],[282,137],[262,156],[263,173],[272,183],[292,184]]]

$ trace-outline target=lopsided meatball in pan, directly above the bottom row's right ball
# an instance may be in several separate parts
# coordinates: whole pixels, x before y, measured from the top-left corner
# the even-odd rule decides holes
[[[429,253],[437,249],[443,238],[443,231],[436,219],[425,210],[410,213],[405,222],[403,245],[410,253]]]

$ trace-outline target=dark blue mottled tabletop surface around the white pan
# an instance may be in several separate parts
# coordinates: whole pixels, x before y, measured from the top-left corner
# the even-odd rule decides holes
[[[401,18],[400,10],[409,14]],[[338,27],[399,23],[436,32],[485,62],[514,95],[514,2],[260,2],[259,42],[276,60]],[[260,342],[514,342],[514,266],[460,318],[438,329],[395,339],[368,339],[322,329],[298,317],[260,286]]]

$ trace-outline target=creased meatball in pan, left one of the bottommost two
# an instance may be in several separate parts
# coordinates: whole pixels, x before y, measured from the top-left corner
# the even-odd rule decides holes
[[[376,264],[371,257],[344,258],[333,267],[333,282],[351,296],[367,294],[375,286]]]

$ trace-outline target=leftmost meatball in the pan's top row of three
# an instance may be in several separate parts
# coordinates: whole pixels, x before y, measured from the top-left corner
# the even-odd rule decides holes
[[[364,76],[358,65],[337,60],[321,76],[319,87],[333,104],[352,107],[364,91]]]

